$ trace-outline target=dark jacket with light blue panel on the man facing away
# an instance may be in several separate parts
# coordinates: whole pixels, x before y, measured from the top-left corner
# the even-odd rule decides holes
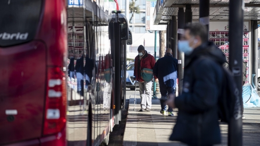
[[[176,87],[178,71],[178,60],[172,55],[165,55],[155,63],[153,73],[159,79],[159,84],[164,84],[167,87]]]

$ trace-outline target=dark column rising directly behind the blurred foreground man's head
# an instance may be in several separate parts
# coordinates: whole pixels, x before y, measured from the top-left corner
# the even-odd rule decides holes
[[[206,25],[209,32],[209,0],[199,0],[199,22]]]

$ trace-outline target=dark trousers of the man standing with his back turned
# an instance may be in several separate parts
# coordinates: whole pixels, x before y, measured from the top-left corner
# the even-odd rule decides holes
[[[162,111],[166,111],[166,100],[167,100],[167,95],[169,94],[175,94],[175,88],[173,87],[167,87],[164,83],[160,83],[160,92],[161,92],[161,107],[162,107]],[[168,107],[168,112],[172,112],[172,108]]]

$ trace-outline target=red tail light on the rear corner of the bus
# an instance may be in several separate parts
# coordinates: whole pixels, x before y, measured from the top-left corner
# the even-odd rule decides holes
[[[65,73],[59,67],[47,72],[44,135],[60,132],[66,123]]]

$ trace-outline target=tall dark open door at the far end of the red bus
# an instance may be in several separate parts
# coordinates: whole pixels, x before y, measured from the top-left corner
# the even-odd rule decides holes
[[[126,45],[129,37],[129,25],[121,11],[113,11],[109,21],[109,39],[113,54],[113,99],[114,122],[121,121],[121,110],[126,101]],[[131,41],[130,41],[131,42]],[[114,52],[114,53],[113,53]]]

